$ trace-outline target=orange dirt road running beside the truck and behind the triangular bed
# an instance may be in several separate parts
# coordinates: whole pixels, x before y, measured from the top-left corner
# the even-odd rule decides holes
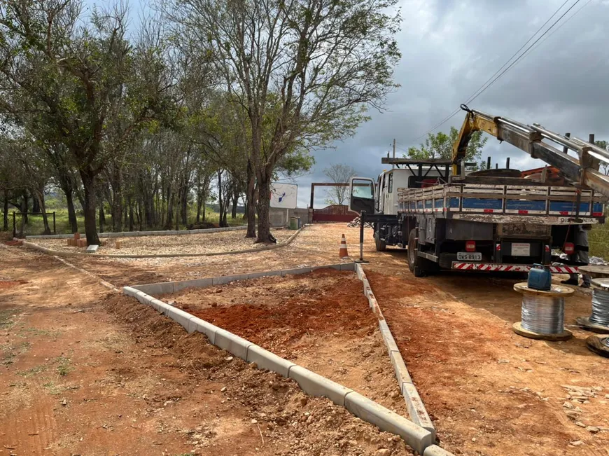
[[[213,277],[335,263],[342,233],[356,257],[358,230],[327,224],[305,228],[288,247],[254,254],[79,257],[74,263],[117,286]],[[587,291],[578,289],[567,301],[573,339],[529,340],[511,331],[520,319],[521,296],[512,290],[518,280],[470,274],[416,279],[405,251],[374,251],[370,230],[365,239],[372,289],[444,448],[471,456],[609,455],[609,359],[589,352],[589,333],[573,326],[575,317],[591,311]]]

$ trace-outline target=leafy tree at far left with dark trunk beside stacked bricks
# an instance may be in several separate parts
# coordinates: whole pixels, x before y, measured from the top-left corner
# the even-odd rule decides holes
[[[141,78],[125,16],[125,8],[115,8],[84,20],[80,0],[8,0],[0,7],[0,110],[27,125],[41,146],[69,151],[83,184],[88,244],[99,244],[99,174],[167,108],[157,71],[148,68],[150,78]],[[121,134],[106,141],[118,120]]]

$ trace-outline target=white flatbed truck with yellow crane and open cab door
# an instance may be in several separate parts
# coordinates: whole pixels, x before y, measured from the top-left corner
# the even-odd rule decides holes
[[[416,277],[437,270],[527,272],[534,263],[576,273],[575,261],[552,252],[573,254],[577,226],[605,223],[609,177],[599,165],[609,162],[609,152],[537,124],[461,108],[465,120],[450,160],[387,157],[381,163],[393,168],[377,179],[350,179],[349,209],[372,223],[377,250],[407,248]],[[524,176],[507,167],[468,172],[465,151],[477,131],[549,167]]]

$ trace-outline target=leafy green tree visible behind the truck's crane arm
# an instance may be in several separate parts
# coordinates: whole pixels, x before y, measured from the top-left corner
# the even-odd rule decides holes
[[[455,127],[450,127],[450,133],[437,132],[437,134],[429,133],[425,144],[420,147],[409,147],[409,158],[425,159],[425,158],[440,158],[442,160],[450,160],[452,158],[452,148],[459,135]],[[489,138],[482,137],[482,132],[475,132],[468,144],[465,160],[478,163],[482,157],[482,148]]]

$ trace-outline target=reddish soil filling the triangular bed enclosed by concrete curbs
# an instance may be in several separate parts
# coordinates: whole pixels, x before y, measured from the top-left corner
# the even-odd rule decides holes
[[[162,299],[408,416],[377,317],[351,271],[262,277]]]

